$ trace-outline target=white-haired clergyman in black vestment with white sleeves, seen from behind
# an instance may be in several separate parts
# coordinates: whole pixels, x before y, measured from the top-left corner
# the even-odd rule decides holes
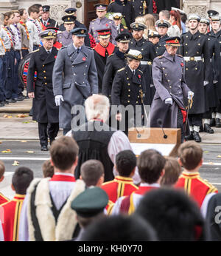
[[[130,141],[124,132],[109,127],[105,122],[109,118],[110,102],[105,95],[92,95],[85,101],[87,122],[72,130],[72,136],[79,146],[78,165],[74,177],[80,178],[80,166],[89,159],[97,159],[105,167],[105,181],[112,181],[118,172],[114,169],[115,156],[126,149],[132,150]],[[70,132],[69,134],[70,135]],[[138,172],[133,182],[139,183]]]

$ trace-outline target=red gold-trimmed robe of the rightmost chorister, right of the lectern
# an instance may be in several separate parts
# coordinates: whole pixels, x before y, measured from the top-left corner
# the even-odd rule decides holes
[[[217,193],[218,190],[208,181],[200,177],[199,172],[185,172],[180,175],[175,188],[183,188],[194,201],[201,207],[204,198],[210,193]]]

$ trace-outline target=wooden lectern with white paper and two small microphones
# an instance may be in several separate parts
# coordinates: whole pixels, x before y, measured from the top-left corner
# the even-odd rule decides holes
[[[156,149],[164,156],[178,155],[181,144],[181,130],[175,128],[133,127],[128,130],[133,152],[140,155],[146,149]]]

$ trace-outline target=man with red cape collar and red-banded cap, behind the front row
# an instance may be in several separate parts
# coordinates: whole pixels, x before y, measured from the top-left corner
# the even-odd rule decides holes
[[[111,44],[111,30],[97,30],[99,44],[94,47],[94,59],[97,66],[98,75],[98,92],[102,92],[102,81],[105,72],[105,65],[109,55],[111,55],[115,50],[115,45]]]

